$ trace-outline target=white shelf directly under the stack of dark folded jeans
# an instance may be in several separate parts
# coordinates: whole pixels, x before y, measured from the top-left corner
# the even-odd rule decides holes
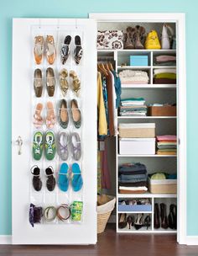
[[[117,194],[118,198],[177,198],[176,194]]]

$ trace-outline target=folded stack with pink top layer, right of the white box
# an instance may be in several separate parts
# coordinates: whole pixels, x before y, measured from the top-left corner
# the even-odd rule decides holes
[[[175,135],[157,136],[158,155],[176,155],[177,137]]]

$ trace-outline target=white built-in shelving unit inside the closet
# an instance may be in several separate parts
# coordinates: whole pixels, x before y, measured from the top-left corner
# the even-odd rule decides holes
[[[164,21],[165,22],[165,21]],[[108,21],[98,23],[98,30],[106,29],[122,29],[125,30],[128,25],[135,26],[139,23],[129,23],[129,22],[116,22]],[[161,29],[163,27],[162,23],[141,23],[140,25],[146,26],[147,32],[151,29],[156,29],[160,35]],[[174,29],[176,28],[175,23],[170,24]],[[98,56],[108,56],[112,57],[115,61],[115,68],[117,73],[121,72],[124,69],[132,70],[143,70],[148,72],[149,82],[148,84],[122,84],[122,96],[121,98],[130,98],[130,97],[143,97],[146,100],[146,104],[154,103],[176,103],[177,102],[177,84],[154,84],[154,69],[164,68],[163,66],[154,65],[154,56],[159,54],[176,54],[176,50],[97,50]],[[148,67],[132,67],[129,66],[129,56],[130,55],[147,55],[148,56]],[[176,62],[177,63],[177,62]],[[167,66],[165,66],[167,67]],[[176,68],[176,67],[169,67]],[[156,135],[163,134],[176,134],[177,131],[177,116],[118,116],[117,115],[117,125],[119,123],[130,123],[130,122],[154,122],[156,124]],[[167,215],[169,214],[169,205],[171,203],[177,202],[177,195],[173,194],[151,194],[147,192],[146,194],[119,194],[118,192],[118,166],[122,163],[131,163],[131,162],[141,162],[148,166],[148,173],[153,173],[154,171],[166,170],[171,173],[177,169],[177,156],[176,155],[120,155],[118,149],[118,133],[116,135],[116,191],[117,191],[117,232],[128,232],[128,233],[158,233],[158,232],[173,232],[176,233],[176,230],[172,229],[155,229],[154,228],[154,203],[155,202],[164,202],[167,205]],[[144,217],[149,215],[151,216],[151,227],[147,228],[142,227],[140,230],[135,230],[134,227],[128,229],[118,228],[119,214],[122,211],[118,211],[118,200],[119,199],[138,199],[138,198],[148,198],[152,204],[152,211],[144,211]],[[137,214],[138,212],[127,211],[127,214]]]

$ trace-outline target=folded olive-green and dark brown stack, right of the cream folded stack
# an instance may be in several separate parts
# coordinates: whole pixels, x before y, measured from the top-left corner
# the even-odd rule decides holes
[[[158,68],[154,69],[155,84],[176,84],[176,69],[175,68]]]

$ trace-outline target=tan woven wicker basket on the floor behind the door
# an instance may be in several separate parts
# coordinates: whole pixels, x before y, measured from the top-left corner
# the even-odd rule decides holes
[[[107,221],[115,207],[116,199],[109,196],[111,199],[104,205],[97,206],[97,233],[100,234],[105,231]]]

